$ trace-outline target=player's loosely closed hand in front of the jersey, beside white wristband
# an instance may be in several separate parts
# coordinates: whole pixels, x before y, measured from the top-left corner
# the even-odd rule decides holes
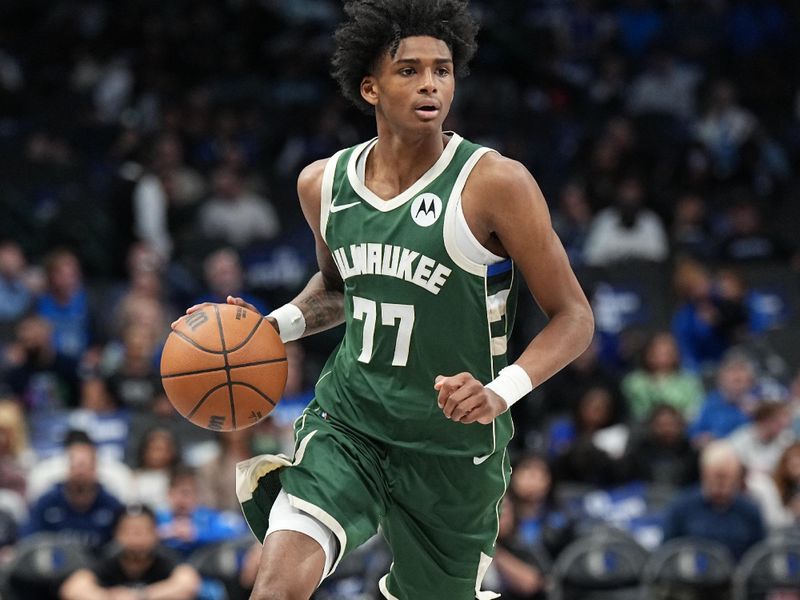
[[[433,389],[439,392],[439,408],[444,416],[458,423],[488,425],[508,410],[505,400],[469,373],[438,375]]]

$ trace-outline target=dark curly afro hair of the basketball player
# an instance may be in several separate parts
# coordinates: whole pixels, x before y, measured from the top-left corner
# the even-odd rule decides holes
[[[372,106],[361,97],[361,82],[374,72],[388,52],[394,56],[400,41],[413,36],[442,40],[453,54],[456,76],[469,73],[478,48],[478,23],[468,0],[349,0],[349,17],[336,31],[333,77],[342,94],[367,113]]]

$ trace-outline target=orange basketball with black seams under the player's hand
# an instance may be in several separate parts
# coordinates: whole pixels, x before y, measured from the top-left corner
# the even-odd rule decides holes
[[[264,419],[286,385],[286,349],[251,310],[210,304],[180,319],[161,356],[172,405],[195,425],[233,431]]]

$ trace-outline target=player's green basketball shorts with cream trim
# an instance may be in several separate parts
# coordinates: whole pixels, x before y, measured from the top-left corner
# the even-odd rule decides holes
[[[295,423],[295,454],[237,465],[237,494],[259,540],[281,488],[333,531],[341,559],[382,531],[394,562],[388,600],[490,600],[480,591],[494,555],[498,511],[511,474],[503,449],[485,460],[440,457],[364,437],[314,402]]]

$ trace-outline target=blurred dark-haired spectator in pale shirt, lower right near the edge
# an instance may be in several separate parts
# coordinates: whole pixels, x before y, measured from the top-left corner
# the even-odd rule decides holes
[[[753,411],[752,422],[739,427],[728,441],[748,471],[771,473],[795,440],[790,425],[786,403],[765,400]]]

